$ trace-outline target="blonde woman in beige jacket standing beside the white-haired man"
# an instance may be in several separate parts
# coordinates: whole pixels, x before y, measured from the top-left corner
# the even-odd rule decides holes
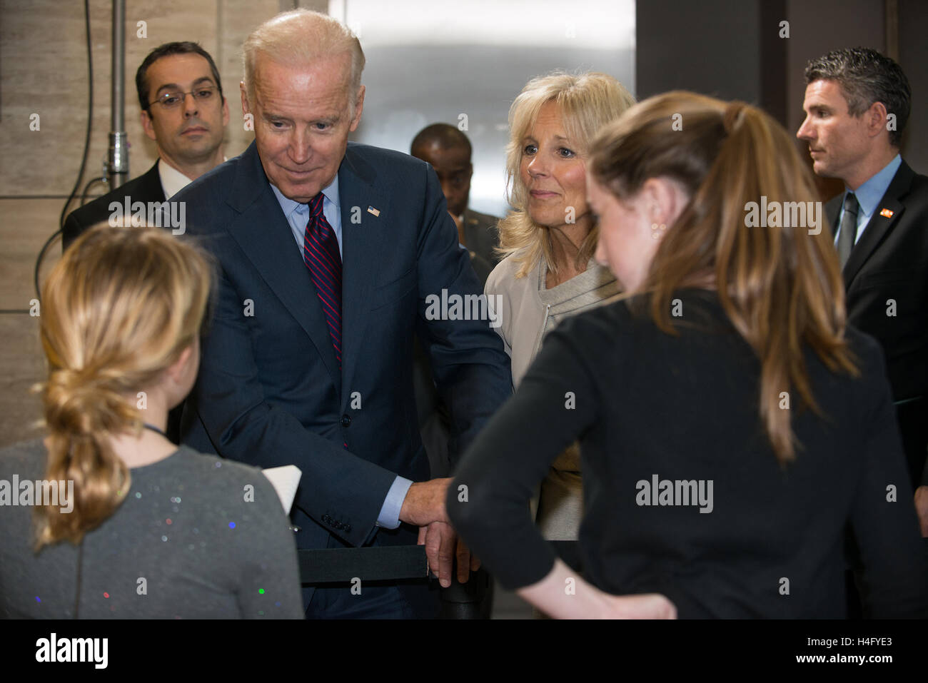
[[[598,230],[586,203],[586,160],[599,128],[635,103],[605,73],[552,73],[522,88],[509,110],[509,203],[499,224],[506,258],[486,282],[500,295],[512,381],[519,386],[542,340],[567,316],[615,300],[621,284],[593,260]],[[570,397],[565,397],[570,401]],[[552,540],[575,540],[580,456],[568,446],[541,484],[536,519]]]

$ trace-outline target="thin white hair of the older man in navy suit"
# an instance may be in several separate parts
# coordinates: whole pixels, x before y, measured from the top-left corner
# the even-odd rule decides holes
[[[305,66],[318,59],[351,55],[351,108],[361,87],[364,71],[364,51],[357,36],[340,21],[329,15],[308,9],[293,9],[268,19],[245,39],[242,62],[245,70],[245,92],[254,102],[254,65],[258,53],[285,66]]]

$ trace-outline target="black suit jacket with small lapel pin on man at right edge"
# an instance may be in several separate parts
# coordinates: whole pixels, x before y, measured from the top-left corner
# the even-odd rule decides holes
[[[825,207],[831,226],[838,225],[843,201],[841,194]],[[913,483],[928,483],[928,177],[905,161],[843,275],[848,323],[883,345]],[[893,302],[895,316],[889,315]]]

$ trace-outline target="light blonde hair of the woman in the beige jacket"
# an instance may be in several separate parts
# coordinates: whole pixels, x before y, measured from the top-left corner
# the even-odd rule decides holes
[[[557,264],[551,251],[551,236],[538,226],[525,210],[528,191],[522,183],[522,141],[538,118],[538,112],[548,102],[555,102],[561,110],[564,130],[574,151],[586,158],[593,136],[607,122],[618,117],[635,104],[635,97],[612,76],[589,72],[579,75],[555,71],[534,78],[525,84],[522,93],[509,108],[509,145],[506,148],[507,199],[513,211],[499,222],[500,254],[520,253],[515,257],[519,265],[516,277],[524,277],[544,259],[548,270],[557,273]],[[577,265],[585,267],[593,252],[599,230],[590,230],[577,255]]]

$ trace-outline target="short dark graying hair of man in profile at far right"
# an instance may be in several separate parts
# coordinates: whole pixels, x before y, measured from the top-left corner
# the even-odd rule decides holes
[[[909,79],[894,60],[869,47],[834,50],[806,64],[806,85],[821,80],[841,85],[851,116],[883,102],[887,113],[896,114],[896,130],[889,131],[889,142],[899,147],[909,121],[912,92]]]

